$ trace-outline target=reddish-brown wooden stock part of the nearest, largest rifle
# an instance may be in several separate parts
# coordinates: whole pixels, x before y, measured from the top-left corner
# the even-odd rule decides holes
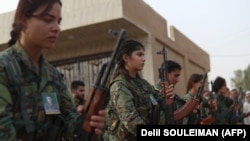
[[[91,90],[90,92],[92,92],[92,96],[90,95],[90,98],[87,98],[86,103],[84,104],[84,112],[86,115],[82,129],[86,132],[93,133],[94,128],[90,126],[91,116],[98,115],[98,111],[103,109],[106,97],[108,95],[104,90],[101,89],[96,89],[95,91]]]

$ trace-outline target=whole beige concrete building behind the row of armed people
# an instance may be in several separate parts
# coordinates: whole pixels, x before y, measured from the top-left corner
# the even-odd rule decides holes
[[[101,65],[107,62],[117,38],[108,31],[126,30],[126,37],[142,42],[146,64],[141,75],[150,83],[158,79],[163,59],[156,52],[166,47],[167,59],[178,62],[183,70],[176,92],[184,95],[192,73],[210,71],[209,54],[174,26],[167,24],[143,0],[62,0],[61,33],[56,47],[44,55],[65,75],[68,85],[73,79],[94,84]],[[7,47],[14,11],[0,14],[0,50]],[[168,28],[170,27],[170,28]]]

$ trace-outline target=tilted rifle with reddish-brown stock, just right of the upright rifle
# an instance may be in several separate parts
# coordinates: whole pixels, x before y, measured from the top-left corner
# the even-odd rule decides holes
[[[203,77],[202,85],[199,87],[197,94],[194,98],[189,99],[182,107],[174,111],[174,120],[179,121],[186,117],[190,112],[193,111],[195,106],[200,103],[202,92],[206,83],[207,73]]]

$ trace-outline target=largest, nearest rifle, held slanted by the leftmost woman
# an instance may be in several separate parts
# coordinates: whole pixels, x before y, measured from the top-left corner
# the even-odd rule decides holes
[[[82,129],[85,132],[93,133],[94,128],[89,125],[91,115],[97,115],[98,111],[103,109],[109,99],[108,82],[113,74],[115,68],[115,57],[120,49],[122,42],[125,40],[126,31],[121,29],[120,32],[110,30],[110,34],[117,36],[117,42],[112,53],[111,59],[108,63],[104,64],[99,72],[94,86],[90,89],[86,102],[84,104],[85,119],[82,125]]]

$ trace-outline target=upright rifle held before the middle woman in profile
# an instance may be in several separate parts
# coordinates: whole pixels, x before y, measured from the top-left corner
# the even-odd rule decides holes
[[[165,110],[165,122],[166,124],[174,124],[174,116],[173,116],[173,98],[169,98],[165,96],[166,85],[169,85],[168,79],[168,66],[167,66],[167,51],[166,47],[162,47],[162,51],[157,52],[157,54],[161,54],[163,56],[163,66],[160,68],[161,73],[161,95],[165,98],[165,103],[163,103],[163,108]]]

